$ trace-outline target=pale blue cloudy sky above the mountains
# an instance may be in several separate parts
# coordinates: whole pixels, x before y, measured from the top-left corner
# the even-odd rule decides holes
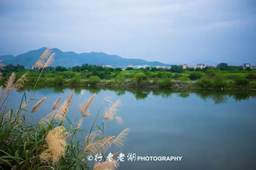
[[[0,55],[40,47],[256,64],[256,0],[0,0]]]

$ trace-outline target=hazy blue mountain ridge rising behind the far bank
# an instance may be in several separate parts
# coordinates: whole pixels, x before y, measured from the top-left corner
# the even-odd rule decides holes
[[[25,67],[32,67],[38,57],[45,51],[46,47],[40,49],[28,51],[24,54],[17,55],[16,57],[10,57],[8,60],[4,60],[4,64],[12,65],[24,65]],[[150,66],[164,66],[169,64],[160,63],[158,61],[146,61],[143,59],[127,59],[118,55],[108,55],[102,52],[90,52],[90,53],[75,53],[72,51],[63,52],[58,48],[53,48],[52,52],[55,52],[54,61],[52,66],[64,66],[73,67],[76,65],[90,64],[90,65],[112,65],[113,67],[126,67],[127,65],[150,65]],[[3,55],[2,55],[3,56]],[[2,57],[0,56],[0,58]]]

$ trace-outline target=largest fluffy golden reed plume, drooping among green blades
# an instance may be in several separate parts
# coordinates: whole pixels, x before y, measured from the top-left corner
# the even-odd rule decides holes
[[[58,163],[61,157],[66,155],[66,148],[68,144],[65,138],[68,132],[63,126],[56,127],[48,132],[46,135],[46,142],[48,149],[40,154],[41,160],[52,160],[53,163]]]

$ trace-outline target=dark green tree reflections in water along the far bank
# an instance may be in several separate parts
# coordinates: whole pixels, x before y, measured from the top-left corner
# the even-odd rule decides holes
[[[72,87],[46,87],[46,86],[37,86],[36,89],[53,89],[54,93],[63,93],[64,89],[72,89]],[[31,89],[28,88],[28,91],[31,91]],[[91,93],[99,93],[101,90],[111,90],[116,93],[116,95],[124,95],[126,92],[132,93],[137,100],[139,99],[145,99],[148,97],[150,93],[154,96],[161,96],[164,98],[170,97],[173,94],[178,95],[178,97],[187,98],[190,96],[191,93],[196,94],[196,96],[200,97],[201,99],[204,99],[205,101],[207,99],[212,99],[215,104],[224,103],[229,98],[233,98],[236,101],[241,100],[248,100],[250,97],[256,97],[255,91],[214,91],[214,90],[177,90],[177,89],[164,89],[164,88],[116,88],[116,87],[85,87],[85,86],[77,86],[74,87],[75,93],[79,94],[82,89],[89,90]],[[22,90],[21,90],[22,91]]]

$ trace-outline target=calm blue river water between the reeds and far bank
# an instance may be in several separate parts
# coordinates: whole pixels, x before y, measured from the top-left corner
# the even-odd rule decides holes
[[[81,89],[81,88],[80,88]],[[80,89],[72,99],[68,118],[74,117]],[[82,127],[89,130],[105,97],[120,98],[122,106],[118,115],[123,125],[114,122],[105,135],[118,135],[124,128],[131,132],[119,150],[126,156],[182,156],[181,161],[120,162],[119,170],[255,170],[256,169],[256,98],[255,94],[240,92],[175,92],[170,90],[104,90],[87,89],[84,99],[97,93],[90,108],[92,116],[84,118]],[[28,92],[30,94],[31,91]],[[38,112],[32,113],[37,122],[51,111],[58,97],[62,101],[71,89],[38,89],[33,98],[46,101]],[[8,99],[8,107],[17,108],[22,92],[14,91]],[[31,111],[31,105],[28,111]],[[106,107],[107,104],[104,105]],[[103,119],[99,115],[98,125]],[[80,113],[76,120],[80,119]],[[107,152],[109,153],[109,152]],[[107,154],[106,153],[106,154]],[[106,155],[105,155],[106,156]]]

